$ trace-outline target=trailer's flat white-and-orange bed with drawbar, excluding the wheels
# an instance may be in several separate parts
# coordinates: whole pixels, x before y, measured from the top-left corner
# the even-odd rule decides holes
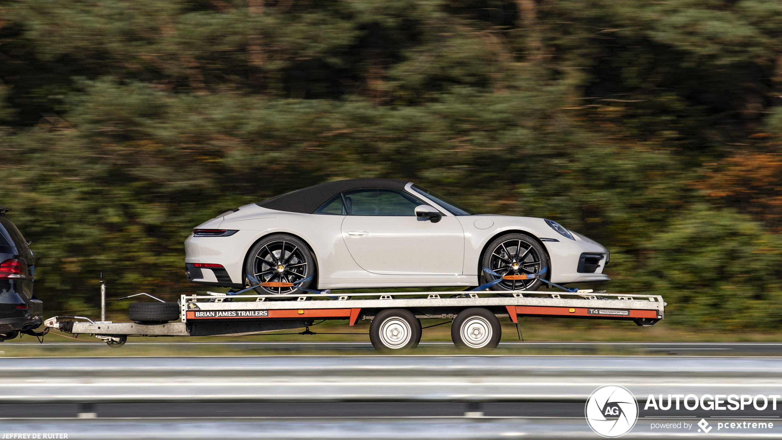
[[[407,310],[414,317],[456,318],[465,309],[486,309],[498,318],[566,317],[632,320],[654,325],[665,315],[660,295],[612,295],[591,292],[552,294],[496,292],[400,292],[350,295],[181,295],[179,322],[94,322],[88,318],[52,317],[46,327],[73,334],[91,334],[109,345],[122,345],[127,336],[241,336],[309,327],[315,320],[374,320],[389,309]],[[70,317],[74,318],[74,317]],[[420,332],[420,331],[419,331]]]

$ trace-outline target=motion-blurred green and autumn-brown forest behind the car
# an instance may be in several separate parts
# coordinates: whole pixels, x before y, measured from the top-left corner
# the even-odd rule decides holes
[[[47,316],[99,272],[195,292],[195,225],[392,177],[600,241],[673,324],[782,320],[778,0],[2,0],[0,80]]]

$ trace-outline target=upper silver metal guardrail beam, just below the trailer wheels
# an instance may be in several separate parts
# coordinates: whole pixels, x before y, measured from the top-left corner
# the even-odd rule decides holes
[[[600,356],[246,356],[0,359],[0,402],[580,401],[782,395],[782,359]]]

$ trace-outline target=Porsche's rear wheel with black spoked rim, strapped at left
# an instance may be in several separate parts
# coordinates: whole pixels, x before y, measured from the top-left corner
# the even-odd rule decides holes
[[[306,243],[288,234],[271,234],[258,241],[247,253],[242,277],[246,278],[246,274],[253,275],[260,282],[285,283],[303,280],[311,275],[313,279],[302,283],[300,287],[317,288],[314,254]],[[311,295],[296,287],[258,287],[255,292],[258,295]]]

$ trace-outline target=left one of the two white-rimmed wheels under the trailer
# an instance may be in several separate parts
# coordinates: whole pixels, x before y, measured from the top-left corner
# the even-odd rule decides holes
[[[369,340],[378,352],[408,352],[421,342],[421,321],[409,310],[382,310],[369,325]]]

